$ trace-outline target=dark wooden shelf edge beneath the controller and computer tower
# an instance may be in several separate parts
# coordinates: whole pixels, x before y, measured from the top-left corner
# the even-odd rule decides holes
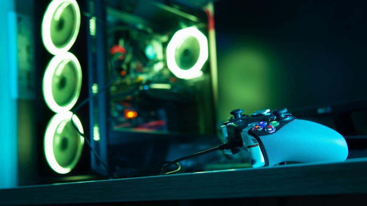
[[[0,190],[1,204],[55,204],[367,193],[367,158]]]

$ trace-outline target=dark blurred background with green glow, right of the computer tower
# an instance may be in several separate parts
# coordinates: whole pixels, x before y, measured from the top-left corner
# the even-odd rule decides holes
[[[364,98],[366,3],[217,1],[219,121],[229,111]]]

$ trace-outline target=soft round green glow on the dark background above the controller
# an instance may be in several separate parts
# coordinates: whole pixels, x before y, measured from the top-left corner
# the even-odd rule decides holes
[[[282,85],[270,83],[279,72],[275,58],[261,43],[236,45],[220,56],[219,121],[230,117],[229,112],[235,108],[243,108],[244,114],[251,114],[268,109],[270,102],[276,101]]]

